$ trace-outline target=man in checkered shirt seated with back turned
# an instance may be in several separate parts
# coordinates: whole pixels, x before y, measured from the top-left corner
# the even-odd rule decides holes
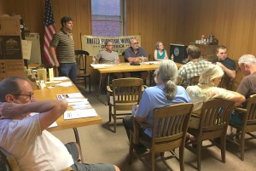
[[[189,45],[187,53],[189,62],[181,66],[177,71],[178,76],[182,77],[183,80],[181,85],[185,88],[189,86],[192,77],[200,76],[204,68],[212,64],[211,62],[200,59],[201,49],[195,45]]]

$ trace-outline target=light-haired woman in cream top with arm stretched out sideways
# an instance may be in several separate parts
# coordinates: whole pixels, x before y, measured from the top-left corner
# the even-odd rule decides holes
[[[245,97],[241,94],[217,87],[223,76],[224,71],[221,67],[212,64],[202,71],[197,85],[189,86],[186,89],[191,102],[194,104],[193,113],[200,115],[203,102],[213,98],[231,100],[239,104],[245,100]]]

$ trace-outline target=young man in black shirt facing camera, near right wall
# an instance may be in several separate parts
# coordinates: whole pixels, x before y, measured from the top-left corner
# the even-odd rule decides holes
[[[235,79],[236,63],[228,57],[228,48],[224,45],[218,46],[216,55],[218,56],[216,65],[220,66],[228,77]]]

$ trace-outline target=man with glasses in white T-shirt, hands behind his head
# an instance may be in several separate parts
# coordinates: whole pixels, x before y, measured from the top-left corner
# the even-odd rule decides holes
[[[78,144],[65,146],[45,130],[67,110],[66,100],[35,101],[32,86],[20,77],[3,79],[0,88],[0,145],[15,157],[20,170],[119,171],[111,164],[80,163]]]

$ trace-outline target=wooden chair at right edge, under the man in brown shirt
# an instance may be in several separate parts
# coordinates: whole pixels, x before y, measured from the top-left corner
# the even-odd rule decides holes
[[[227,136],[227,140],[239,146],[241,160],[243,161],[245,140],[256,139],[256,135],[252,134],[256,131],[256,94],[250,96],[246,109],[236,108],[235,111],[241,117],[242,123],[241,125],[230,123],[231,127],[236,128],[236,134]],[[250,137],[246,139],[245,134],[250,135]],[[236,140],[234,137],[236,137]]]

